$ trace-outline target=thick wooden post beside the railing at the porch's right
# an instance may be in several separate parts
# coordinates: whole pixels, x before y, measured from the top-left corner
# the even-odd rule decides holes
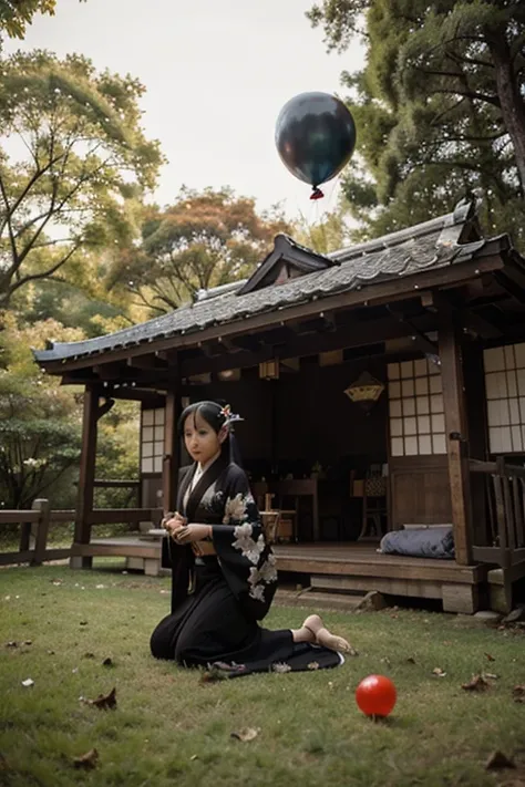
[[[469,426],[463,384],[461,333],[459,314],[445,304],[440,307],[439,342],[455,560],[461,566],[469,566],[472,561],[472,505],[469,462],[465,451]]]

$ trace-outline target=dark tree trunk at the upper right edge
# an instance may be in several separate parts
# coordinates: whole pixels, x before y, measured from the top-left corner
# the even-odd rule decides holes
[[[511,50],[503,28],[487,28],[486,43],[494,63],[496,90],[505,128],[511,137],[519,175],[522,196],[525,195],[525,103],[514,73]]]

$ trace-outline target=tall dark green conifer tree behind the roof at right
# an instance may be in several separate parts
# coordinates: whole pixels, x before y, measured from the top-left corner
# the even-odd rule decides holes
[[[523,3],[323,0],[309,17],[329,48],[357,34],[368,44],[364,70],[344,75],[358,138],[367,128],[346,183],[366,231],[423,220],[478,188],[491,229],[523,242]]]

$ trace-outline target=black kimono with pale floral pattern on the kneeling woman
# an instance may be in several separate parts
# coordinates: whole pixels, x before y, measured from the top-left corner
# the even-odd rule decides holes
[[[342,663],[334,651],[295,643],[289,629],[258,625],[277,589],[277,568],[248,479],[220,456],[187,495],[196,469],[195,464],[182,472],[177,510],[189,524],[213,526],[216,555],[195,557],[203,542],[195,548],[164,539],[172,565],[172,612],[152,634],[153,655],[184,666],[214,666],[230,677]]]

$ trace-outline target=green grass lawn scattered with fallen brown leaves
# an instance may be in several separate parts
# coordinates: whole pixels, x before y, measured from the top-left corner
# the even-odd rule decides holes
[[[425,611],[326,613],[360,651],[342,667],[203,683],[150,656],[168,587],[117,568],[0,570],[0,785],[525,785],[525,704],[512,697],[525,683],[523,629]],[[278,607],[266,624],[303,617]],[[462,690],[482,672],[498,676],[487,691]],[[398,687],[387,722],[356,705],[370,673]],[[114,686],[114,710],[80,701]],[[255,739],[231,737],[246,727]],[[75,768],[92,748],[96,767]],[[494,749],[517,769],[485,770]]]

